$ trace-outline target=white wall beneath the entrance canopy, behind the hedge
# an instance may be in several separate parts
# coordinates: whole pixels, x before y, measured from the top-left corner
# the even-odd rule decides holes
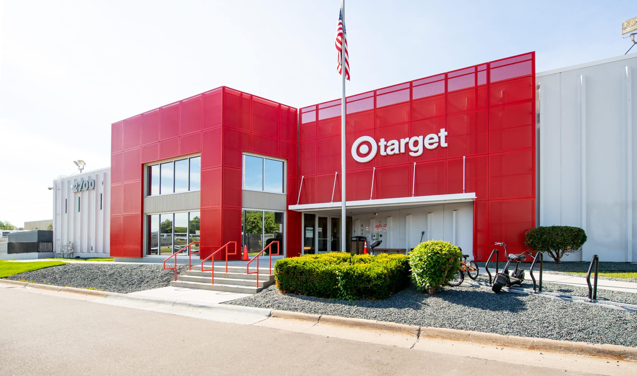
[[[454,214],[455,212],[455,214]],[[360,224],[357,226],[357,221]],[[352,236],[366,236],[374,232],[376,224],[388,224],[387,233],[380,231],[383,243],[379,248],[410,250],[422,241],[445,240],[462,248],[473,259],[473,202],[422,206],[404,210],[352,216]],[[371,231],[365,231],[371,226]]]

